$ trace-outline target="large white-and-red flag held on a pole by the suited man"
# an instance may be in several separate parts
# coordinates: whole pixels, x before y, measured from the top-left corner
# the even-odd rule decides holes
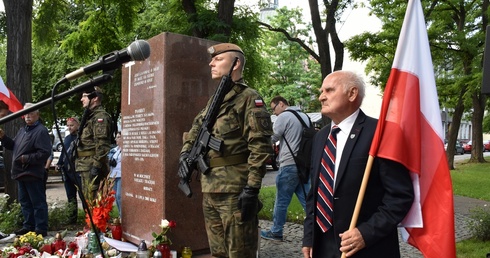
[[[369,154],[411,172],[415,200],[402,226],[424,257],[456,257],[454,203],[420,0],[408,2]]]

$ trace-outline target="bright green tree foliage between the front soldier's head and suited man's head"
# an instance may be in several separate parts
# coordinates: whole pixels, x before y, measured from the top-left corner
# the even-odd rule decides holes
[[[321,85],[320,64],[299,43],[311,44],[311,25],[304,22],[300,9],[281,8],[269,19],[270,25],[261,24],[271,30],[263,37],[268,62],[265,69],[270,72],[260,92],[267,103],[281,95],[290,105],[301,106],[306,112],[318,110],[319,103],[312,99],[317,97]]]

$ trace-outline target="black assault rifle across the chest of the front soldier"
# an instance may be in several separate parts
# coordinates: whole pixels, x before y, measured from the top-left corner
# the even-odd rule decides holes
[[[187,197],[192,197],[192,190],[189,186],[191,181],[192,172],[197,168],[197,170],[204,175],[209,173],[210,167],[206,162],[206,154],[209,149],[213,149],[215,151],[221,151],[221,145],[223,143],[222,140],[211,135],[214,123],[216,123],[216,118],[219,113],[219,109],[225,95],[231,90],[232,79],[231,73],[233,72],[233,67],[235,67],[238,61],[238,57],[235,58],[233,64],[231,65],[230,72],[228,75],[224,75],[221,77],[221,81],[218,85],[218,88],[214,92],[213,100],[209,105],[209,108],[204,116],[202,121],[202,125],[199,128],[197,133],[197,137],[194,140],[194,144],[192,145],[192,149],[187,157],[187,164],[189,166],[189,174],[186,178],[182,178],[179,182],[179,189],[184,192]]]

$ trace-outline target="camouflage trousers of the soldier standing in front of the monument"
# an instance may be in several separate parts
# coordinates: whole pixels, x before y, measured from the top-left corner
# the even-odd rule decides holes
[[[239,193],[203,193],[209,248],[214,257],[257,257],[259,221],[242,222]]]

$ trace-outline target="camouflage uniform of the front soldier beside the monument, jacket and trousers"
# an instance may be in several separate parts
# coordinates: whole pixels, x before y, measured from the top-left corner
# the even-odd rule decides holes
[[[212,98],[211,98],[212,100]],[[182,152],[189,152],[209,104],[194,119]],[[238,196],[245,186],[260,188],[265,162],[272,153],[272,125],[260,95],[243,81],[225,96],[212,134],[223,141],[221,152],[207,154],[211,172],[201,175],[203,211],[211,254],[255,257],[257,217],[241,221]]]

